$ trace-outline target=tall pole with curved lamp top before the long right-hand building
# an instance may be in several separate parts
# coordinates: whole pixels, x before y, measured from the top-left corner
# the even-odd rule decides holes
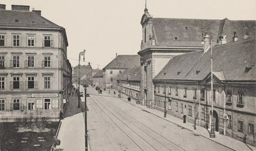
[[[209,31],[210,33],[210,87],[211,87],[211,95],[210,95],[210,99],[211,99],[211,124],[210,124],[210,138],[215,138],[215,133],[214,133],[214,106],[213,106],[213,91],[214,91],[214,85],[213,85],[213,78],[212,78],[212,33],[211,33],[211,29],[207,26],[204,26],[204,23],[201,23],[201,29],[202,29],[202,36],[203,33],[205,33],[205,37],[204,38],[208,38],[209,35],[207,34],[207,32],[205,31]],[[204,31],[205,30],[205,31]],[[204,46],[205,47],[205,46]]]

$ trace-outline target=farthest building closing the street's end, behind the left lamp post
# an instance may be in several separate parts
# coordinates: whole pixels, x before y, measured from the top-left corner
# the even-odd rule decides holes
[[[73,72],[73,81],[78,83],[78,77],[80,76],[80,80],[82,77],[91,77],[92,78],[92,66],[90,65],[90,62],[88,65],[80,65],[80,75],[79,75],[79,66],[74,67]]]

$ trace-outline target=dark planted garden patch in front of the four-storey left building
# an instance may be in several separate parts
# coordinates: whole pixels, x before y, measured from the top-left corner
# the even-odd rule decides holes
[[[53,136],[58,128],[58,122],[48,122],[46,123],[46,128],[51,131],[18,133],[17,125],[14,122],[0,123],[0,150],[47,151],[51,147]]]

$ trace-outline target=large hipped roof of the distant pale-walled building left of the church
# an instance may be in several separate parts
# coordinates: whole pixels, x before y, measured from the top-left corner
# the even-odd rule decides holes
[[[128,69],[136,66],[140,66],[139,55],[118,55],[103,69]]]

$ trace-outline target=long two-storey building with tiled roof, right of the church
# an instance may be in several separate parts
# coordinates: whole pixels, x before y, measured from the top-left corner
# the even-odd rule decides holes
[[[156,109],[255,146],[256,38],[212,47],[213,113],[209,37],[205,49],[173,57],[153,80]],[[228,39],[227,39],[228,40]],[[166,95],[166,98],[165,98]],[[196,111],[195,111],[196,110]],[[195,114],[196,113],[196,114]],[[196,117],[195,117],[196,116]],[[246,136],[247,135],[247,136]]]

